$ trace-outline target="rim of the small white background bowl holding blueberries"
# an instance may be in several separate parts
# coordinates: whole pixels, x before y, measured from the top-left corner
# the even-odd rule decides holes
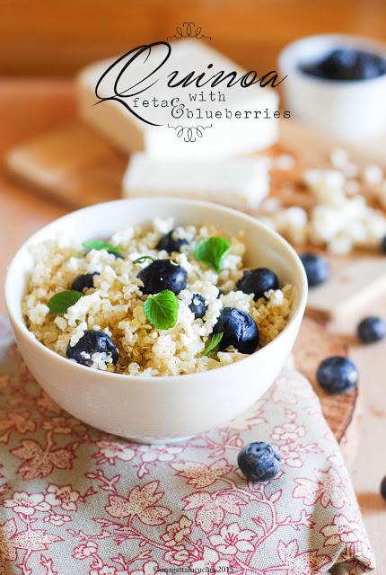
[[[304,72],[299,68],[301,59],[297,53],[298,49],[306,43],[311,41],[321,41],[326,40],[330,42],[336,42],[336,45],[345,44],[345,46],[353,46],[357,49],[364,49],[383,57],[386,61],[386,43],[381,40],[376,40],[369,38],[367,36],[362,36],[359,34],[344,34],[344,33],[326,33],[326,34],[311,34],[310,36],[303,36],[286,44],[285,47],[280,51],[277,61],[282,70],[286,75],[294,75],[297,78],[302,78],[304,82],[309,82],[310,84],[329,86],[329,88],[337,87],[338,89],[352,89],[352,88],[364,88],[366,86],[373,86],[373,84],[382,84],[386,80],[386,73],[379,75],[375,78],[364,78],[361,80],[332,80],[330,78],[321,78],[319,76],[312,76],[304,74]],[[320,51],[320,55],[323,52]]]

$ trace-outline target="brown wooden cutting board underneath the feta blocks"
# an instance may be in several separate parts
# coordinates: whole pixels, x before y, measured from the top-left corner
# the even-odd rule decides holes
[[[299,122],[284,120],[280,141],[269,153],[294,155],[298,169],[323,167],[329,164],[329,151],[336,145]],[[350,154],[360,166],[374,162],[373,156],[364,151],[351,148]],[[120,198],[128,160],[127,155],[79,120],[22,142],[4,156],[13,177],[72,209]],[[288,201],[293,200],[290,194]]]

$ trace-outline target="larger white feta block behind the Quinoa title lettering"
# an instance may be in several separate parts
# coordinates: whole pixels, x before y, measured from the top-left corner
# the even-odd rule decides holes
[[[145,151],[154,158],[229,157],[276,142],[276,89],[259,84],[242,87],[240,79],[245,71],[202,41],[172,42],[170,57],[154,72],[166,56],[167,46],[162,44],[150,55],[145,52],[134,58],[129,66],[127,57],[123,58],[104,75],[98,96],[114,96],[114,84],[121,72],[117,90],[126,105],[117,100],[101,102],[95,95],[101,75],[117,58],[83,68],[76,82],[81,118],[121,150]],[[211,87],[210,79],[221,71],[224,75],[235,71],[239,80],[231,87],[226,85],[229,80]],[[167,83],[173,72],[178,72],[174,84],[192,72],[195,79],[200,74],[205,77],[198,83],[201,87],[196,82],[170,87]]]

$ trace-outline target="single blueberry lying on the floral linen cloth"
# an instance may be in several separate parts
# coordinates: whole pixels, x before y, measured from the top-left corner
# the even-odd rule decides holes
[[[256,441],[242,447],[237,456],[241,472],[252,482],[268,482],[280,472],[280,456],[274,447]]]

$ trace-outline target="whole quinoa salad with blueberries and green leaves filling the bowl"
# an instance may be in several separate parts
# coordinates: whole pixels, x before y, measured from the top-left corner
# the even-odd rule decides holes
[[[273,341],[293,286],[245,264],[244,233],[154,217],[110,237],[30,246],[22,298],[30,332],[86,367],[180,376],[232,364]]]

